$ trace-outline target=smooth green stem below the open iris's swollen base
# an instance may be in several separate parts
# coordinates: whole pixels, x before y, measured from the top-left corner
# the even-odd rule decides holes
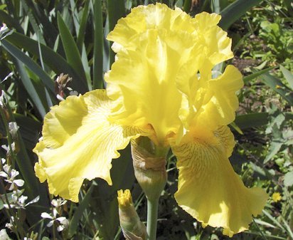
[[[156,223],[158,219],[159,198],[147,199],[147,240],[156,240]]]

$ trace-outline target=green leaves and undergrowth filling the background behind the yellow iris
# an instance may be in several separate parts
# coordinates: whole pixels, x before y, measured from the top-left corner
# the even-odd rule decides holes
[[[48,195],[46,184],[40,184],[34,175],[36,156],[31,150],[52,105],[70,94],[104,88],[103,74],[114,61],[111,43],[105,36],[117,19],[134,6],[154,2],[0,0],[0,21],[13,30],[1,34],[0,88],[7,102],[2,95],[0,136],[6,150],[2,147],[0,154],[25,181],[23,187],[16,187],[24,190],[16,200],[19,202],[21,195],[28,197],[27,202],[40,198],[14,207],[10,184],[1,177],[0,224],[11,239],[122,239],[117,189],[132,189],[139,216],[146,219],[146,202],[134,179],[129,149],[113,162],[113,186],[100,179],[85,182],[79,204],[51,204],[53,196]],[[220,26],[233,38],[235,58],[230,63],[242,71],[245,87],[239,93],[238,117],[230,125],[237,140],[230,161],[246,186],[263,187],[271,196],[250,230],[233,239],[293,239],[292,1],[160,2],[170,7],[176,4],[191,16],[201,11],[221,14]],[[68,76],[57,82],[61,73]],[[16,135],[9,122],[17,122]],[[160,200],[157,239],[228,239],[220,229],[203,229],[178,207],[173,197],[178,172],[171,153],[167,169],[169,179]],[[8,203],[11,206],[5,207]],[[43,212],[51,214],[53,226],[47,226],[52,219],[41,217]],[[68,221],[56,220],[60,216]],[[64,226],[63,231],[57,231],[58,226]]]

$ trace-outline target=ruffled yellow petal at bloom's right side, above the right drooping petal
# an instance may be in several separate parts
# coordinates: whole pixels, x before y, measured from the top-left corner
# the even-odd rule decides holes
[[[181,78],[191,79],[191,73],[180,72]],[[182,86],[183,101],[179,117],[184,129],[191,127],[216,130],[235,119],[238,108],[236,92],[243,86],[242,75],[234,66],[227,66],[222,75],[215,79],[196,77],[189,85]],[[191,84],[192,83],[192,84]]]

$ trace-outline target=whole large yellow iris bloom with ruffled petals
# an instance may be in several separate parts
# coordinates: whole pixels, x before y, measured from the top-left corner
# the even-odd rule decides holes
[[[203,226],[232,236],[260,214],[267,195],[248,189],[228,157],[242,75],[234,66],[213,78],[213,67],[233,57],[220,16],[191,18],[164,4],[138,6],[107,36],[117,53],[106,90],[70,96],[51,108],[34,152],[51,194],[78,202],[84,179],[112,184],[112,159],[129,140],[149,137],[177,157],[176,201]]]

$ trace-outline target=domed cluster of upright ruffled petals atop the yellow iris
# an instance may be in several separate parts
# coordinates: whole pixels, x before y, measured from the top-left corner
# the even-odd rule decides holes
[[[217,14],[203,12],[193,19],[158,3],[138,6],[120,19],[107,36],[117,52],[112,71],[105,75],[109,97],[120,102],[114,119],[151,125],[156,135],[151,139],[161,145],[171,134],[179,133],[179,142],[190,125],[204,122],[196,118],[206,120],[211,112],[206,108],[213,107],[214,89],[208,83],[212,68],[233,57],[231,39],[217,26],[219,21]],[[219,113],[223,108],[214,113],[225,118],[223,124],[209,118],[213,130],[235,115],[228,108],[224,116]]]

